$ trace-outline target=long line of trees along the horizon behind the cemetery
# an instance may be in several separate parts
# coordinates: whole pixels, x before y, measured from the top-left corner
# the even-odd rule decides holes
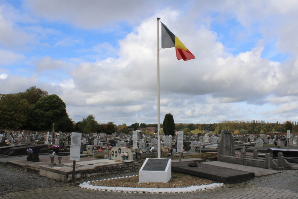
[[[36,86],[24,92],[0,94],[0,116],[0,129],[52,131],[54,123],[54,130],[63,132],[131,133],[139,127],[154,127],[157,132],[157,124],[136,122],[129,126],[127,124],[117,126],[112,121],[98,123],[91,114],[86,118],[83,117],[79,122],[74,122],[66,112],[66,104],[58,95],[48,95],[47,91]],[[233,133],[286,132],[289,124],[291,124],[292,132],[298,132],[296,121],[269,123],[264,120],[235,120],[213,124],[175,123],[173,115],[168,113],[161,124],[161,133],[174,135],[176,130],[183,130],[184,134],[198,134],[203,130],[208,130],[219,134],[223,129],[231,130]],[[145,130],[146,132],[148,131]]]

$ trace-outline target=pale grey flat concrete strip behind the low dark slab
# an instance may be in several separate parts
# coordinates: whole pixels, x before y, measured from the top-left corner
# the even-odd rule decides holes
[[[221,166],[221,167],[231,168],[231,169],[238,169],[240,171],[253,172],[254,176],[256,176],[256,177],[281,172],[281,171],[276,171],[276,170],[271,170],[271,169],[263,169],[263,168],[258,168],[258,167],[244,166],[244,165],[240,165],[240,164],[232,164],[232,163],[219,162],[219,161],[204,162],[202,164]]]

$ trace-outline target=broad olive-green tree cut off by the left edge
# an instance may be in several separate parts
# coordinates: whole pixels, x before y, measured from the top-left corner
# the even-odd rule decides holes
[[[0,128],[22,129],[27,123],[30,104],[13,94],[0,94]]]

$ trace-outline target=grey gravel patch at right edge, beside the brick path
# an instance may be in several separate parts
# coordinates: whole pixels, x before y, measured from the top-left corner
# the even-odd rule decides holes
[[[284,170],[282,173],[255,177],[249,184],[273,189],[286,189],[298,193],[298,170]]]

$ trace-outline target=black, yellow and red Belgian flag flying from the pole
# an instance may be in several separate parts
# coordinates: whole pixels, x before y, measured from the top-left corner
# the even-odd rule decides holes
[[[162,48],[176,48],[177,59],[184,61],[194,59],[195,56],[182,44],[178,37],[176,37],[162,22]]]

